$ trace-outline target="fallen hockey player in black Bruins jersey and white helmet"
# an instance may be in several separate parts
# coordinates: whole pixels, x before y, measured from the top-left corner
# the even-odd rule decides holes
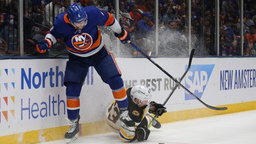
[[[128,115],[135,122],[135,126],[129,127],[120,121],[120,110],[117,102],[113,101],[106,110],[105,121],[109,129],[119,133],[122,142],[133,142],[147,140],[150,130],[147,129],[152,116],[149,113],[159,113],[161,116],[166,112],[162,104],[151,102],[150,90],[143,85],[134,85],[126,89],[128,97]],[[160,128],[161,124],[155,120],[152,124],[155,128]]]

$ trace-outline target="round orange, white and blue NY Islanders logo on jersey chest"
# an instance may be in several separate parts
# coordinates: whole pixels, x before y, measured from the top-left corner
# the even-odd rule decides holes
[[[75,35],[72,38],[72,44],[77,50],[87,50],[92,46],[92,37],[87,33]]]

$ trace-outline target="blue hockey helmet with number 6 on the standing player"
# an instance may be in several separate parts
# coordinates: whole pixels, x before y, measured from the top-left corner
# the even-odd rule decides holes
[[[87,23],[87,15],[83,7],[78,3],[68,6],[68,17],[70,18],[71,23],[80,23],[83,20]]]

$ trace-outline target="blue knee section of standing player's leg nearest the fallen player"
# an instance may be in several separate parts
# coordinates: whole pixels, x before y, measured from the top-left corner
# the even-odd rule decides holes
[[[114,76],[106,80],[111,90],[118,90],[123,87],[123,79],[120,75]]]

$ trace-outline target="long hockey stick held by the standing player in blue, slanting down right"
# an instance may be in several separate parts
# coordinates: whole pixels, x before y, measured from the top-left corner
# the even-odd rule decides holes
[[[183,86],[178,80],[173,78],[169,73],[167,73],[162,67],[160,67],[156,62],[154,62],[150,57],[147,56],[143,51],[141,51],[137,46],[135,46],[131,41],[128,41],[136,50],[138,50],[141,54],[143,54],[150,62],[152,62],[155,66],[157,66],[161,71],[163,71],[167,76],[169,76],[173,81],[175,81],[177,84],[179,84],[184,90],[186,90],[189,94],[191,94],[193,97],[195,97],[199,102],[201,102],[203,105],[206,107],[213,109],[213,110],[226,110],[226,107],[218,108],[218,107],[213,107],[211,105],[208,105],[201,101],[197,96],[195,96],[190,90],[188,90],[185,86]]]

